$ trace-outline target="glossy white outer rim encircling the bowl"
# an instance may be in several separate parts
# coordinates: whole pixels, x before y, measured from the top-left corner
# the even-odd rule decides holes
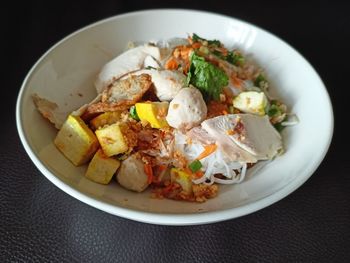
[[[147,13],[154,13],[154,12],[179,12],[179,13],[197,13],[199,15],[214,15],[219,16],[221,18],[226,18],[228,20],[234,20],[235,22],[243,23],[248,25],[249,27],[255,28],[259,31],[262,31],[264,34],[267,34],[271,36],[272,38],[275,38],[279,41],[281,41],[283,44],[285,44],[289,49],[292,49],[295,51],[303,60],[303,63],[306,63],[310,69],[313,71],[315,77],[318,79],[320,83],[321,91],[324,93],[324,96],[327,101],[327,107],[329,108],[329,129],[327,133],[327,142],[325,144],[325,147],[322,149],[322,152],[320,154],[320,157],[317,162],[315,162],[314,166],[310,169],[309,173],[306,176],[303,177],[297,177],[291,182],[289,182],[284,187],[278,189],[276,192],[271,193],[270,195],[267,195],[261,199],[255,200],[251,203],[241,205],[239,207],[234,207],[230,209],[225,210],[217,210],[217,211],[207,211],[207,212],[197,212],[197,213],[186,213],[186,214],[179,214],[179,213],[156,213],[156,212],[147,212],[147,211],[141,211],[141,210],[134,210],[126,207],[121,207],[117,205],[113,205],[107,202],[99,201],[94,199],[93,197],[89,196],[88,194],[84,194],[77,189],[71,187],[64,181],[60,180],[58,177],[56,177],[48,168],[46,168],[45,164],[40,160],[39,156],[35,153],[35,150],[30,146],[29,141],[27,140],[27,136],[24,133],[24,128],[22,125],[22,106],[23,106],[23,97],[25,88],[27,86],[27,83],[29,82],[31,76],[33,75],[35,69],[37,66],[51,53],[52,50],[54,50],[56,47],[61,45],[63,42],[68,40],[69,38],[81,33],[82,31],[85,31],[87,29],[93,28],[95,26],[101,25],[103,23],[115,20],[115,19],[123,19],[128,16],[135,16],[135,15],[141,15],[141,14],[147,14]],[[146,9],[146,10],[138,10],[133,12],[127,12],[122,13],[118,15],[114,15],[102,20],[99,20],[97,22],[91,23],[87,26],[84,26],[76,31],[74,31],[71,34],[68,34],[66,37],[59,40],[56,44],[51,46],[37,61],[36,63],[31,67],[29,72],[27,73],[21,88],[18,93],[17,101],[16,101],[16,126],[17,131],[20,137],[20,140],[22,142],[22,145],[27,152],[28,156],[32,160],[32,162],[35,164],[35,166],[39,169],[39,171],[47,178],[49,179],[54,185],[56,185],[58,188],[66,192],[67,194],[73,196],[74,198],[78,199],[79,201],[82,201],[83,203],[86,203],[90,206],[93,206],[99,210],[105,211],[109,214],[117,215],[119,217],[135,220],[138,222],[143,223],[150,223],[150,224],[157,224],[157,225],[198,225],[198,224],[209,224],[209,223],[215,223],[220,221],[225,221],[229,219],[238,218],[250,213],[253,213],[255,211],[258,211],[260,209],[263,209],[267,206],[270,206],[284,197],[287,197],[289,194],[294,192],[296,189],[298,189],[302,184],[305,183],[306,180],[308,180],[311,175],[314,174],[316,169],[319,167],[321,162],[324,160],[328,149],[332,142],[333,137],[333,131],[334,131],[334,115],[333,115],[333,108],[330,96],[328,94],[328,91],[318,75],[317,71],[314,69],[314,67],[304,58],[304,56],[299,53],[295,48],[293,48],[290,44],[288,44],[286,41],[281,39],[280,37],[274,35],[273,33],[260,28],[259,26],[256,26],[252,23],[246,22],[244,20],[227,16],[220,13],[214,13],[214,12],[208,12],[208,11],[201,11],[201,10],[193,10],[193,9],[178,9],[178,8],[159,8],[159,9]]]

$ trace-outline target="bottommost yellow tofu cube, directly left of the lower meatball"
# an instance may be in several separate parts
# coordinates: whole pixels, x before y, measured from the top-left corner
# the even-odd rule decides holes
[[[92,158],[85,176],[99,184],[108,184],[120,166],[120,161],[107,157],[99,149]]]

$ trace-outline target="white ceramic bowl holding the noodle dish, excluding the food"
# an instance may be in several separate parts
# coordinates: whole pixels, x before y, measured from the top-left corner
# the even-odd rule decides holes
[[[300,119],[285,129],[286,153],[241,184],[222,186],[217,198],[203,204],[158,200],[150,192],[129,192],[116,182],[104,186],[84,177],[55,148],[56,130],[34,108],[31,94],[55,101],[62,111],[76,109],[96,94],[93,86],[101,66],[122,52],[130,40],[186,37],[236,45],[254,55],[272,84]],[[81,96],[83,95],[83,96]],[[164,225],[217,222],[252,213],[287,196],[319,166],[331,142],[333,113],[329,96],[312,66],[276,36],[243,21],[190,10],[148,10],[118,15],[87,26],[60,41],[33,66],[17,101],[20,138],[37,168],[66,193],[121,217]]]

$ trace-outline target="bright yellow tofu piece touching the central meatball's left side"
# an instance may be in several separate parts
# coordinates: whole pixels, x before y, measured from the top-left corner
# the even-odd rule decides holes
[[[168,102],[139,102],[135,107],[140,120],[149,122],[152,128],[169,127],[165,119],[168,113]]]

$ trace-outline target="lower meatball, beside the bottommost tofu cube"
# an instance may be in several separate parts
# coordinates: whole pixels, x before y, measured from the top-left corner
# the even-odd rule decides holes
[[[117,181],[124,188],[136,192],[144,191],[149,185],[144,164],[136,155],[131,155],[122,162]]]

